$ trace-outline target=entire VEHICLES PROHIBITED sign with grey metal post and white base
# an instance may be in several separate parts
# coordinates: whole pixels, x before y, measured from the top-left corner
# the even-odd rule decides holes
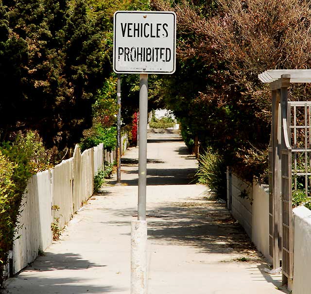
[[[170,11],[114,14],[113,69],[139,73],[138,220],[131,222],[131,294],[147,294],[148,74],[172,74],[176,64],[176,15]]]

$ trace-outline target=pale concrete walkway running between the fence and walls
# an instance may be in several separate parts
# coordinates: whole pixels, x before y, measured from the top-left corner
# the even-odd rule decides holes
[[[11,294],[129,294],[130,221],[137,218],[138,149],[31,266],[7,283]],[[149,140],[149,294],[275,294],[267,267],[222,204],[191,182],[197,162],[179,140]],[[243,262],[241,260],[247,260]],[[286,292],[285,292],[286,293]]]

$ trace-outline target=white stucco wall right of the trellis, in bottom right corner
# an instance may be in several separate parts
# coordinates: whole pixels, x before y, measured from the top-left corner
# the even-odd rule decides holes
[[[311,294],[311,210],[303,206],[294,212],[294,283],[293,294]]]

